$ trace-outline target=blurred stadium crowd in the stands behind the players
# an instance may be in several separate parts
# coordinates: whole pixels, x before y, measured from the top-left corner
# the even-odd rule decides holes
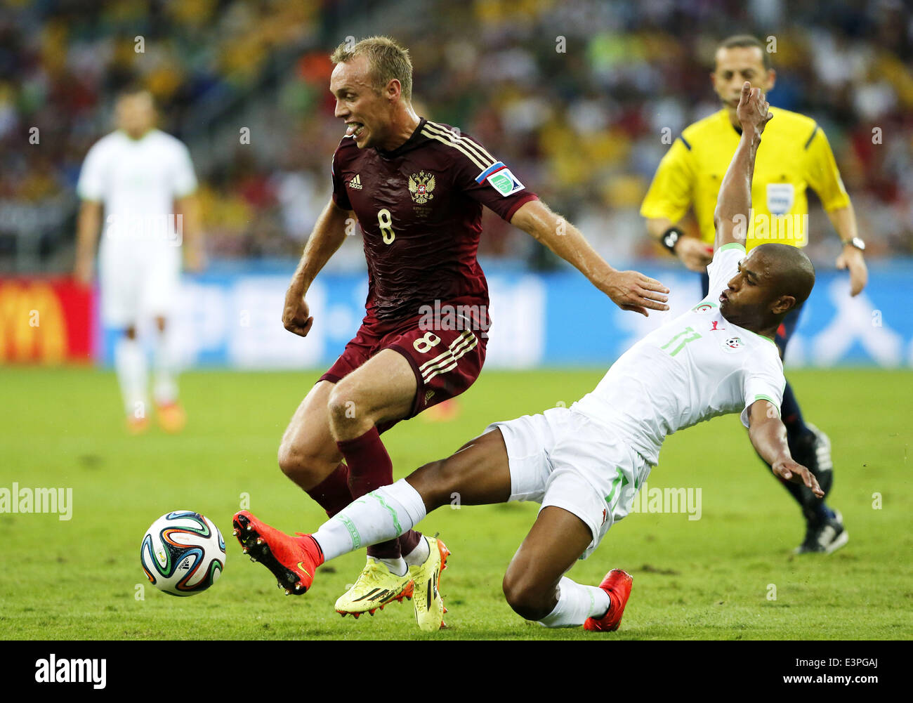
[[[824,128],[866,256],[913,254],[913,15],[899,0],[11,0],[0,9],[0,270],[71,268],[79,169],[128,83],[152,91],[160,127],[190,147],[209,257],[297,258],[343,132],[328,54],[372,34],[409,47],[419,114],[477,137],[603,257],[666,257],[638,214],[664,129],[674,138],[719,109],[714,48],[742,32],[775,39],[771,104]],[[554,264],[487,215],[484,257]],[[810,255],[833,262],[820,205],[811,226]],[[363,266],[352,237],[329,268]]]

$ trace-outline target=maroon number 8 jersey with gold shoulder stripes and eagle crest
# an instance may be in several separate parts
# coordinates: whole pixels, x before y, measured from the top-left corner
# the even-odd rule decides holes
[[[509,221],[537,197],[471,137],[425,118],[392,152],[343,137],[332,176],[333,201],[362,226],[365,310],[377,320],[415,317],[435,300],[488,306],[476,259],[482,205]]]

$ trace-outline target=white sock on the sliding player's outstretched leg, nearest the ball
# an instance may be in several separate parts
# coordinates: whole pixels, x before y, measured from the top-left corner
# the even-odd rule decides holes
[[[341,554],[394,540],[425,518],[425,503],[405,478],[350,503],[320,525],[313,538],[326,561]]]

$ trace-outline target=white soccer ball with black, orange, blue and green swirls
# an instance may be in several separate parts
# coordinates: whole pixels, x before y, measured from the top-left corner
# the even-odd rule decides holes
[[[175,510],[142,538],[142,570],[160,591],[193,595],[209,588],[226,565],[226,540],[215,523],[193,510]]]

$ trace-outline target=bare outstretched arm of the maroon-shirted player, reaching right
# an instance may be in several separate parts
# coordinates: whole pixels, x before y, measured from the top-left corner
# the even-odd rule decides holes
[[[666,286],[636,271],[616,271],[596,253],[577,227],[551,212],[542,201],[530,200],[521,205],[510,218],[510,224],[572,264],[622,310],[634,310],[646,316],[647,308],[669,309]]]

